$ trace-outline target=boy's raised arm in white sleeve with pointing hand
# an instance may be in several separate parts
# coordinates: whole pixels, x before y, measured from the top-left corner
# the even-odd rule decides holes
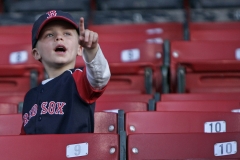
[[[102,89],[111,76],[109,65],[98,44],[98,34],[84,28],[82,17],[79,25],[79,44],[84,48],[83,59],[89,83],[95,89]]]

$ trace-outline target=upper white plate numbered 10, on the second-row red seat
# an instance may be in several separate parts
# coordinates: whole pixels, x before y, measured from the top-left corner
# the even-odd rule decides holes
[[[226,132],[225,121],[206,122],[204,124],[205,133],[221,133]]]

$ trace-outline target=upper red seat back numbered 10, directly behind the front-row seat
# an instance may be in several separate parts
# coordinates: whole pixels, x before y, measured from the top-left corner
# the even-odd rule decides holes
[[[231,112],[128,112],[127,135],[137,133],[240,132],[240,114]]]

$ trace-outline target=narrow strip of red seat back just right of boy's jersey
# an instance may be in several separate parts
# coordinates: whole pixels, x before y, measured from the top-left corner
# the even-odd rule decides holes
[[[97,101],[95,112],[105,110],[123,110],[124,112],[130,111],[147,111],[147,102],[126,102],[126,101]]]

